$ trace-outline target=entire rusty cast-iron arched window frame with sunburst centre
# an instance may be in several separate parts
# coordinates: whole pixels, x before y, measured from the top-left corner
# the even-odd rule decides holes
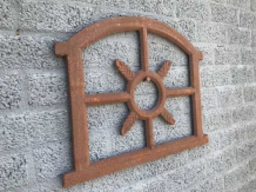
[[[122,31],[139,31],[141,70],[133,73],[125,63],[117,59],[115,60],[115,66],[128,81],[126,91],[117,93],[85,94],[81,50],[104,36]],[[164,87],[162,79],[169,70],[170,61],[164,62],[157,73],[148,69],[148,31],[169,39],[188,54],[190,87],[172,89],[166,89]],[[160,23],[157,20],[146,17],[115,17],[102,20],[101,22],[84,28],[67,41],[55,41],[54,46],[55,55],[66,56],[67,58],[72,120],[74,170],[62,175],[63,187],[70,187],[125,168],[178,153],[183,150],[188,150],[189,148],[203,145],[208,142],[208,136],[203,135],[202,130],[198,65],[198,61],[203,59],[203,53],[198,51],[175,29]],[[159,91],[158,102],[156,106],[149,111],[143,111],[138,108],[133,95],[136,84],[144,78],[153,80]],[[161,115],[167,123],[175,123],[173,116],[164,108],[165,98],[185,95],[190,95],[192,100],[194,134],[189,137],[154,145],[153,118],[157,115]],[[122,124],[120,131],[121,135],[130,130],[137,118],[145,120],[146,147],[90,163],[86,106],[115,102],[126,102],[130,109],[130,114]]]

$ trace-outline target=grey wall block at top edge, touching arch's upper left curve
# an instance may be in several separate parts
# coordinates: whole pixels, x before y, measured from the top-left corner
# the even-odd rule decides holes
[[[22,29],[32,31],[77,32],[96,21],[123,15],[106,7],[81,2],[31,2],[21,4]]]

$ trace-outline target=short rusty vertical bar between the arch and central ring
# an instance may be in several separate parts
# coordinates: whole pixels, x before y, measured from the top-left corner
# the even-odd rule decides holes
[[[142,28],[140,31],[140,63],[141,70],[148,71],[148,46],[147,46],[147,29]]]

